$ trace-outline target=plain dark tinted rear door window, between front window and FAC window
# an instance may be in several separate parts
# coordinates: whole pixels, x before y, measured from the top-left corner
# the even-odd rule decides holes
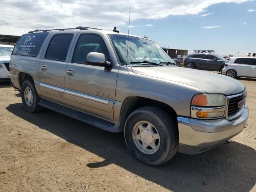
[[[45,58],[66,61],[73,34],[57,34],[52,37]]]

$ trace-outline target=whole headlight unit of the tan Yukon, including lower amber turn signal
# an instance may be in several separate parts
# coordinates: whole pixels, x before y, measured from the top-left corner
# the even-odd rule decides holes
[[[221,118],[225,116],[226,98],[223,94],[198,94],[191,101],[192,118]]]

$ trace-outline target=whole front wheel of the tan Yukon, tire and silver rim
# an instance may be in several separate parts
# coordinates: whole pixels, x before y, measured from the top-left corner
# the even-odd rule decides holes
[[[178,152],[176,122],[162,109],[143,107],[126,120],[124,137],[132,155],[148,165],[160,165]]]

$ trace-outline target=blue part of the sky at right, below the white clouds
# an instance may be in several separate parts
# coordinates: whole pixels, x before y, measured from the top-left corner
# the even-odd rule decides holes
[[[248,10],[255,10],[248,12]],[[202,16],[204,14],[207,16]],[[132,15],[132,10],[131,10]],[[151,24],[153,26],[142,26]],[[221,55],[240,56],[256,52],[256,1],[241,4],[220,3],[197,15],[168,16],[130,22],[130,34],[146,36],[162,47],[192,50],[215,50]],[[202,28],[220,26],[215,28]],[[128,32],[127,28],[121,28]]]

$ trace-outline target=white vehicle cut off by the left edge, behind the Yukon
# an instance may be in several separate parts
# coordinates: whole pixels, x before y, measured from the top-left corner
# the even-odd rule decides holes
[[[14,46],[0,44],[0,80],[10,79],[10,56]]]

